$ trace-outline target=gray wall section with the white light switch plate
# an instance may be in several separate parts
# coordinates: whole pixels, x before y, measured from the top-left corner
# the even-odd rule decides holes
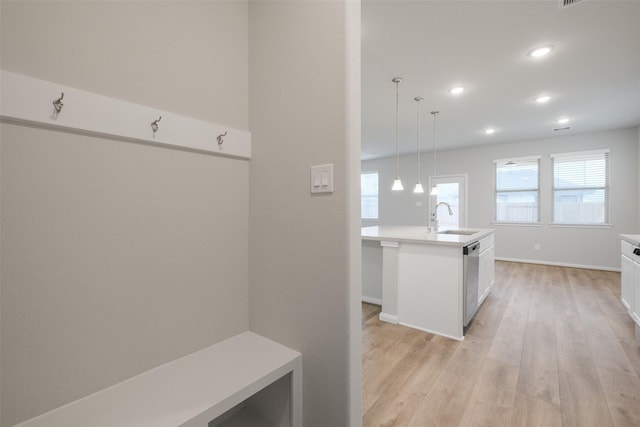
[[[250,4],[251,329],[303,353],[306,427],[361,422],[356,7]],[[324,163],[335,191],[311,196]]]

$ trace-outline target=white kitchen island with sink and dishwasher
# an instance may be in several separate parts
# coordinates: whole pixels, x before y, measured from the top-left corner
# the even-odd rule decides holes
[[[363,300],[379,299],[380,320],[462,340],[469,293],[463,250],[479,243],[477,282],[469,294],[479,306],[495,276],[494,230],[377,226],[363,227],[361,236],[363,289],[376,293],[372,283],[380,288]]]

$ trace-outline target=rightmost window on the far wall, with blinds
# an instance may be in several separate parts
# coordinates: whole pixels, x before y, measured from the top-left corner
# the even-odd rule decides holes
[[[553,223],[609,222],[609,150],[552,154]]]

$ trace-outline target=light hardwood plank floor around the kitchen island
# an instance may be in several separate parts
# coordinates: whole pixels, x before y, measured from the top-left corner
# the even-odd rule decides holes
[[[454,341],[362,305],[363,425],[640,426],[640,348],[616,272],[496,262]]]

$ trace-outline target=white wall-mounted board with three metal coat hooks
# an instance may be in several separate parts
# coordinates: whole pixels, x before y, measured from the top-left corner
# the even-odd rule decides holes
[[[5,70],[0,73],[2,119],[223,156],[251,157],[251,134],[247,131]]]

